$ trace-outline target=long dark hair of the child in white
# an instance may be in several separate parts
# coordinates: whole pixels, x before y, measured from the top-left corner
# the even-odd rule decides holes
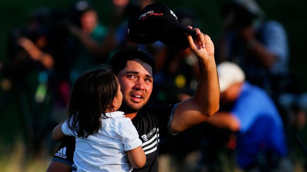
[[[117,84],[115,74],[107,68],[88,70],[77,78],[71,92],[67,123],[78,137],[87,138],[102,127],[104,113],[117,94]]]

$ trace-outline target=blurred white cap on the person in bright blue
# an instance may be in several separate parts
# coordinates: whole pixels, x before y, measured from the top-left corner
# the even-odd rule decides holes
[[[232,62],[222,62],[217,66],[220,92],[224,92],[230,85],[245,80],[243,70]]]

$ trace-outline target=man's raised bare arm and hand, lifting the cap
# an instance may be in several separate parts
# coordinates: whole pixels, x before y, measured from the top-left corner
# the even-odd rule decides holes
[[[192,28],[191,28],[192,29]],[[199,29],[195,39],[187,35],[190,49],[199,59],[200,80],[195,95],[178,103],[170,132],[176,134],[204,122],[219,109],[219,82],[214,60],[214,45]]]

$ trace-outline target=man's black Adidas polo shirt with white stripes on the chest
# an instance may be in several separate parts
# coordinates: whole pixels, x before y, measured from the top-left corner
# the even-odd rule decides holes
[[[170,122],[174,113],[174,105],[145,106],[141,109],[132,123],[142,140],[142,148],[146,154],[146,164],[133,172],[158,172],[159,138],[169,134]],[[175,109],[175,108],[174,108]],[[52,161],[73,165],[75,138],[66,137],[54,154]]]

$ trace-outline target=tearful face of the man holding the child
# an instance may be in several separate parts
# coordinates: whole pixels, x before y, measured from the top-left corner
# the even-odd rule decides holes
[[[139,59],[131,60],[117,78],[123,94],[121,110],[125,113],[139,111],[153,91],[152,67]]]

